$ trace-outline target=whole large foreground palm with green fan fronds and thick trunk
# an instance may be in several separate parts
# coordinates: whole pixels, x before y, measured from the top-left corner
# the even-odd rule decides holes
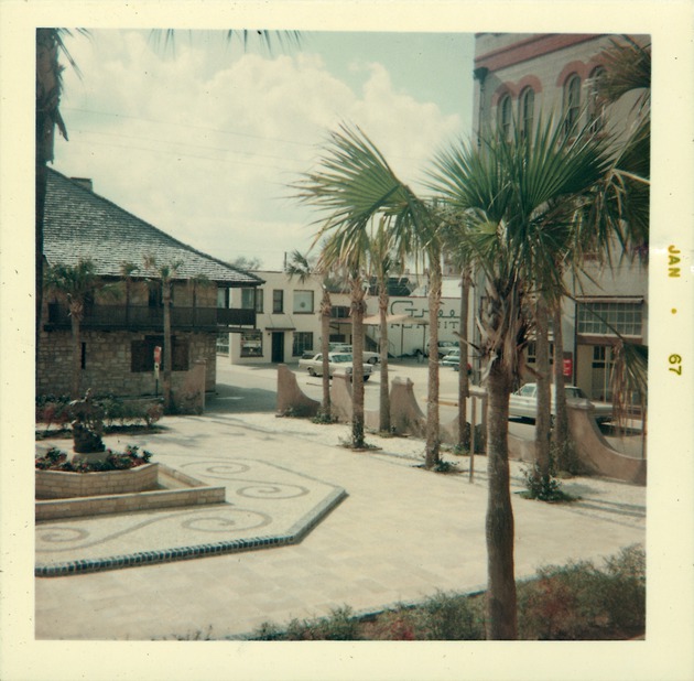
[[[432,186],[451,209],[465,216],[467,257],[485,275],[478,349],[486,360],[489,399],[490,638],[516,637],[507,419],[522,350],[531,327],[538,324],[538,315],[529,310],[540,302],[542,325],[544,305],[564,291],[557,261],[573,244],[577,206],[590,199],[609,160],[599,140],[567,139],[551,119],[538,122],[532,143],[519,132],[510,139],[487,140],[480,149],[463,143],[443,152],[432,172]],[[540,333],[546,332],[540,328]],[[549,380],[549,376],[544,378]]]

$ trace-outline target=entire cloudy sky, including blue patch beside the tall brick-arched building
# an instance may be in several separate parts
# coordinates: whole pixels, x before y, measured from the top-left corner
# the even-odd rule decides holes
[[[286,35],[284,35],[286,37]],[[66,39],[53,167],[225,261],[278,270],[321,217],[292,185],[328,132],[359,126],[421,188],[434,153],[471,130],[471,33],[302,32],[269,52],[249,36],[91,30]],[[65,60],[63,60],[66,62]]]

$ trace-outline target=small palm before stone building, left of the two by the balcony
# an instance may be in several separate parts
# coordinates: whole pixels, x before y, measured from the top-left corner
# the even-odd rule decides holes
[[[91,260],[79,260],[77,264],[54,264],[45,273],[45,287],[67,304],[73,335],[71,398],[76,400],[80,392],[82,378],[82,322],[85,304],[97,289],[115,291],[96,273]]]

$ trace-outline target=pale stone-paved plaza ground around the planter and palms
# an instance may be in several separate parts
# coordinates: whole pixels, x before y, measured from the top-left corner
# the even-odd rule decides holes
[[[115,448],[138,444],[150,450],[155,461],[195,469],[196,477],[220,469],[232,469],[236,475],[242,463],[247,477],[299,485],[307,491],[293,498],[316,495],[313,501],[318,506],[326,490],[329,496],[329,490],[344,489],[348,496],[295,544],[37,577],[36,638],[149,640],[209,633],[242,637],[263,621],[319,616],[345,604],[356,612],[371,612],[422,599],[437,590],[484,588],[485,457],[475,457],[470,484],[469,460],[452,457],[463,462],[463,475],[427,473],[416,467],[422,461],[421,442],[371,436],[368,441],[382,448],[355,453],[339,446],[348,440],[347,426],[321,426],[267,413],[169,418],[162,423],[163,433],[109,437],[107,444]],[[512,464],[512,475],[518,491],[522,467]],[[238,490],[238,479],[234,485]],[[246,483],[240,487],[247,489],[242,504],[238,497],[228,496],[227,500],[242,506],[251,497],[257,504],[265,496],[265,511],[262,504],[242,507],[284,527],[296,515],[305,515],[305,507],[282,511],[278,500],[270,498],[269,488],[261,493],[257,487],[249,496],[248,487]],[[547,506],[514,495],[519,579],[543,564],[599,560],[644,541],[644,488],[576,478],[566,482],[564,489],[582,500]],[[312,509],[316,507],[313,501]],[[178,520],[189,514],[177,512],[182,514]],[[172,511],[164,515],[171,517]],[[137,538],[135,531],[142,521],[142,514],[130,514],[98,521],[63,520],[59,526],[64,532],[85,529],[84,523],[91,523],[86,528],[91,532],[98,527],[94,558],[142,550],[144,536]],[[165,530],[164,522],[145,525],[160,528],[150,538],[162,548],[199,542],[205,523],[175,521]],[[213,528],[215,541],[232,539],[240,526],[242,522],[229,521],[226,529]],[[36,544],[39,564],[79,558],[78,543],[57,559],[48,558],[51,540],[46,540],[45,529],[37,528],[37,537],[43,534]],[[209,529],[208,525],[207,536]]]

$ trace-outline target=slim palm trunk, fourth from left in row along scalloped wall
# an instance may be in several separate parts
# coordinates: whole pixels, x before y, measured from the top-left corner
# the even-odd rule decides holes
[[[429,287],[429,389],[426,394],[425,467],[433,468],[440,461],[438,433],[438,310],[441,307],[441,257],[430,257]]]

